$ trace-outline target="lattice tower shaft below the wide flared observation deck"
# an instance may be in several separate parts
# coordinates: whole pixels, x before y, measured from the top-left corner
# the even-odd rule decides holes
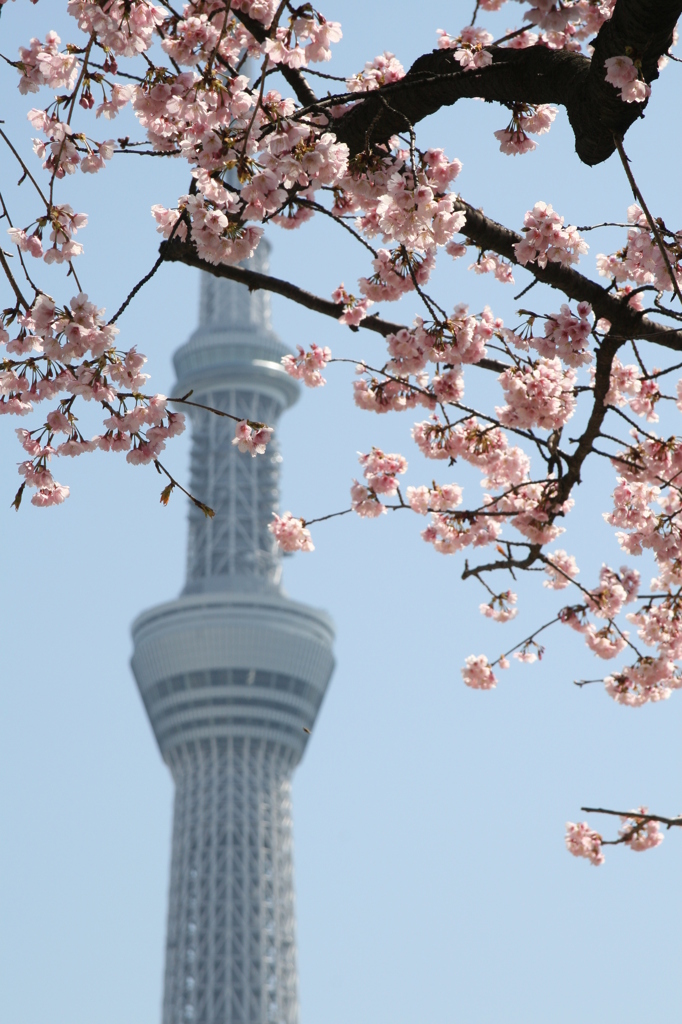
[[[297,1019],[291,754],[177,749],[164,1022]],[[264,1014],[263,1014],[264,1011]]]

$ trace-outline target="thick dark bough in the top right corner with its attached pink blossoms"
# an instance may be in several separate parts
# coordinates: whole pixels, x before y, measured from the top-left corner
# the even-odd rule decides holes
[[[368,134],[375,144],[386,142],[404,129],[406,120],[416,125],[458,99],[480,97],[508,105],[513,114],[519,104],[558,103],[568,115],[580,159],[601,163],[615,148],[613,136],[625,135],[641,116],[681,12],[677,0],[619,0],[610,17],[601,6],[576,26],[568,5],[558,11],[552,5],[549,11],[535,12],[539,27],[549,31],[540,38],[529,33],[510,38],[506,46],[496,46],[481,29],[463,30],[456,37],[442,33],[439,48],[419,57],[399,82],[384,85],[376,96],[335,119],[335,134],[354,154],[366,147]],[[591,57],[574,49],[588,39]],[[381,103],[382,94],[390,97],[390,106]],[[346,97],[335,96],[327,103],[342,99]],[[503,145],[519,132],[523,137],[512,152],[526,152],[523,127],[506,129]]]

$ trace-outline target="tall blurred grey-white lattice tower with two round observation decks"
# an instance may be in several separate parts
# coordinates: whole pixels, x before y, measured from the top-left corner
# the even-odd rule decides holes
[[[252,261],[266,269],[263,243]],[[274,425],[298,397],[269,298],[202,274],[175,394]],[[163,1024],[297,1024],[291,775],[333,669],[333,628],[280,585],[276,444],[190,412],[186,584],[133,624],[132,668],[175,782]]]

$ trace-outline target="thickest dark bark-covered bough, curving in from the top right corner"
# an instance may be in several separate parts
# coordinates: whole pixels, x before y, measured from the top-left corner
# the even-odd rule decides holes
[[[604,61],[630,55],[641,62],[647,83],[658,77],[658,58],[672,44],[682,13],[682,0],[617,0],[613,15],[600,29],[592,59],[580,53],[529,46],[487,49],[493,63],[464,72],[454,50],[434,50],[419,57],[406,77],[369,93],[334,125],[351,154],[368,141],[380,143],[458,99],[487,102],[558,103],[564,106],[576,136],[576,152],[590,165],[613,153],[613,135],[623,137],[646,104],[626,103],[605,81]],[[390,105],[382,96],[390,94]]]

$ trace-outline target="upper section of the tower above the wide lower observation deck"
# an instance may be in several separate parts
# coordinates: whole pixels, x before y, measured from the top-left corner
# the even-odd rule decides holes
[[[255,269],[267,271],[261,243]],[[274,426],[298,398],[284,371],[286,347],[270,326],[269,295],[202,274],[199,327],[175,353],[176,394],[241,420]],[[260,590],[279,585],[281,565],[268,530],[279,500],[282,457],[276,439],[264,456],[245,458],[231,440],[235,421],[190,408],[191,493],[215,510],[189,510],[184,593]]]

